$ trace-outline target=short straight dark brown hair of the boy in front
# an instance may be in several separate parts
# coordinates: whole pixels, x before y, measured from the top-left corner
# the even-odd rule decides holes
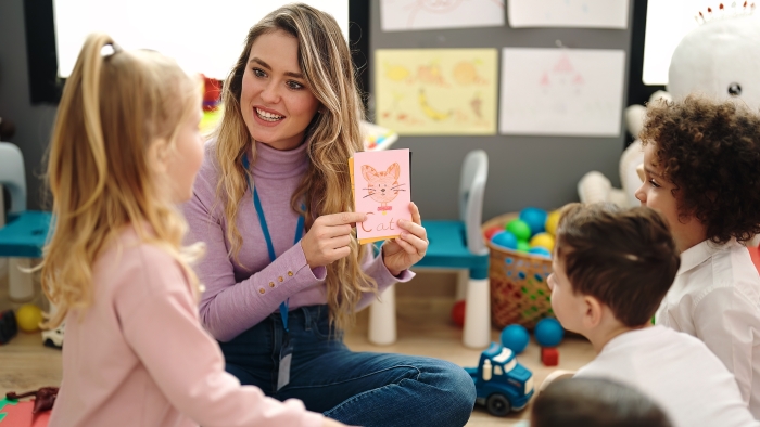
[[[570,204],[556,251],[573,292],[595,297],[629,327],[651,319],[681,264],[668,223],[647,207]]]

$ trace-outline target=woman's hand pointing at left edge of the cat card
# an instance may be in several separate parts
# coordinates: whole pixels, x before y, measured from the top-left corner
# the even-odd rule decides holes
[[[360,212],[340,212],[317,218],[301,240],[308,267],[314,269],[327,266],[351,254],[351,229],[356,222],[366,219],[367,215]]]

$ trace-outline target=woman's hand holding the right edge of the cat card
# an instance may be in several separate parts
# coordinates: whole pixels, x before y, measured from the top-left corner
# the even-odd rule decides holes
[[[396,222],[403,229],[401,236],[382,245],[385,268],[393,275],[398,275],[402,271],[416,264],[428,250],[428,233],[422,227],[417,205],[410,203],[409,210],[411,210],[411,221],[398,220]]]

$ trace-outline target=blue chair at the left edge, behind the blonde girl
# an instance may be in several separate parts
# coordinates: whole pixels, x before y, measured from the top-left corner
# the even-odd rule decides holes
[[[51,219],[50,212],[26,210],[25,177],[21,150],[11,143],[0,142],[0,185],[11,193],[7,223],[0,228],[0,257],[9,258],[9,296],[15,301],[34,297],[31,274],[18,268],[28,268],[30,258],[42,257]]]

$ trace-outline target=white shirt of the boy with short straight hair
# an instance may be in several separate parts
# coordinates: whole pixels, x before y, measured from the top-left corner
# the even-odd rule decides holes
[[[704,342],[662,326],[612,338],[577,377],[606,377],[637,388],[676,427],[760,426],[729,370]]]

